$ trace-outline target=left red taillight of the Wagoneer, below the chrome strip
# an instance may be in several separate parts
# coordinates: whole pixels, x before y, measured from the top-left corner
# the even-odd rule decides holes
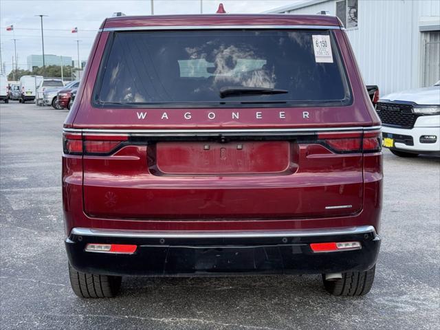
[[[122,142],[129,140],[128,135],[81,135],[64,133],[64,153],[69,155],[109,155]]]

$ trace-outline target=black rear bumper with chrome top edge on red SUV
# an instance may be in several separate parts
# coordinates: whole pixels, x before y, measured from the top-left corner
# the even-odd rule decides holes
[[[360,250],[314,253],[310,243],[359,241]],[[86,252],[87,243],[134,244],[134,254]],[[65,241],[80,272],[118,276],[320,274],[368,270],[380,236],[371,225],[325,230],[147,232],[74,228]]]

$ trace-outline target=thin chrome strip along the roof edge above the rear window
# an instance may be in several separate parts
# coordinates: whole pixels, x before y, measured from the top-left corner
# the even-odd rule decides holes
[[[123,28],[103,28],[98,32],[110,31],[160,31],[160,30],[256,30],[256,29],[277,29],[277,30],[340,30],[334,25],[166,25],[166,26],[131,26]]]

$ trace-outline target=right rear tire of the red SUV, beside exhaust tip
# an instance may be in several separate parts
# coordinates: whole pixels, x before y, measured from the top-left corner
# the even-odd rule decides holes
[[[376,266],[366,272],[342,273],[342,278],[336,281],[326,281],[322,274],[324,287],[333,296],[364,296],[373,286]]]

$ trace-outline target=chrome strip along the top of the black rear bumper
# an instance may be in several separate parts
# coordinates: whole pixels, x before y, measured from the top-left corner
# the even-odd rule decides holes
[[[77,236],[99,237],[131,237],[144,239],[220,239],[220,238],[265,238],[265,237],[305,237],[305,236],[332,236],[349,234],[366,234],[373,232],[372,225],[358,227],[342,227],[331,229],[311,230],[251,230],[251,231],[147,231],[147,230],[111,230],[74,228],[70,234]]]

